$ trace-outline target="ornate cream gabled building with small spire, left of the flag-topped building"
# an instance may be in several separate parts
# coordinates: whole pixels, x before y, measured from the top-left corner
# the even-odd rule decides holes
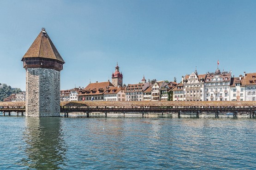
[[[204,80],[206,74],[197,71],[184,77],[184,101],[204,101]]]

